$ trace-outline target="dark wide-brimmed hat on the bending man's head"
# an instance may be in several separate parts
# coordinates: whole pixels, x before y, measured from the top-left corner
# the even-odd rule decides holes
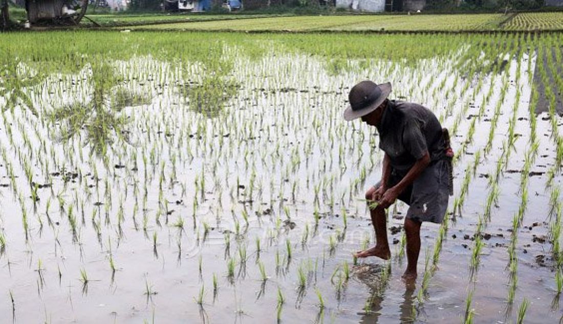
[[[350,105],[344,111],[344,119],[352,120],[376,110],[391,93],[391,82],[376,84],[362,81],[350,90]]]

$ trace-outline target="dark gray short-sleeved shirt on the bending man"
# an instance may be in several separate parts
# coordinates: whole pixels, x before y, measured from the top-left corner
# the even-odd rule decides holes
[[[426,152],[431,161],[444,158],[442,126],[425,106],[390,100],[377,125],[379,148],[387,153],[391,167],[406,173]]]

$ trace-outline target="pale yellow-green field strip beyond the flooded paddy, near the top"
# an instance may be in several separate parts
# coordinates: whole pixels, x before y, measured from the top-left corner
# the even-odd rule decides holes
[[[509,21],[510,20],[510,21]],[[507,24],[503,24],[503,22]],[[563,12],[471,15],[358,15],[263,17],[238,21],[204,21],[137,26],[155,30],[201,31],[490,31],[556,30]]]

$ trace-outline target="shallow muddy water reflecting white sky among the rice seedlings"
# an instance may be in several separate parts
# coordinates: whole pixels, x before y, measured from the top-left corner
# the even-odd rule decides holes
[[[213,118],[199,113],[193,98],[180,91],[187,80],[202,82],[196,62],[184,71],[150,57],[114,62],[124,78],[119,87],[149,100],[109,110],[126,123],[118,132],[108,125],[103,137],[108,140],[106,151],[96,151],[100,146],[92,145],[85,127],[68,137],[61,131],[68,119],[48,122],[57,107],[90,100],[88,67],[79,75],[53,75],[27,89],[41,107],[37,115],[24,107],[4,111],[2,322],[275,322],[279,314],[287,323],[451,323],[463,320],[469,290],[475,291],[472,308],[477,322],[515,321],[524,298],[530,302],[526,322],[558,321],[563,312],[553,303],[551,244],[535,239],[548,233],[546,174],[529,179],[528,208],[517,230],[516,297],[512,308],[506,303],[507,246],[520,205],[519,170],[530,137],[527,62],[519,80],[517,62],[512,60],[510,68],[492,81],[485,115],[476,122],[473,141],[455,166],[454,197],[475,152],[486,144],[500,89],[510,82],[493,149],[481,156],[461,213],[449,214],[437,269],[421,303],[417,293],[426,254],[434,249],[437,224],[422,227],[419,279],[414,286],[400,279],[406,266],[397,244],[400,230],[390,235],[390,271],[388,264],[376,259],[352,264],[351,253],[362,242],[374,242],[361,199],[379,178],[382,156],[374,149],[378,140],[373,129],[341,118],[348,86],[366,77],[390,80],[395,86],[392,96],[425,104],[448,127],[463,114],[454,147],[466,141],[472,120],[467,116],[479,114],[481,99],[473,97],[482,98],[489,88],[472,96],[477,80],[459,78],[462,75],[453,68],[455,56],[424,60],[415,67],[351,61],[335,76],[315,57],[272,54],[251,61],[234,54],[235,50],[226,57],[235,61],[227,78],[239,87],[225,110]],[[491,83],[491,75],[481,77],[484,84]],[[456,78],[458,86],[449,89]],[[446,87],[439,88],[444,79]],[[472,237],[488,195],[488,176],[506,141],[516,87],[521,89],[519,137],[506,166],[510,172],[498,180],[498,203],[484,230],[490,236],[485,236],[480,267],[471,277]],[[447,107],[453,110],[448,113]],[[546,116],[538,116],[540,153],[531,168],[540,173],[556,155]],[[84,125],[95,121],[86,119]],[[561,120],[558,124],[561,132]],[[34,182],[47,185],[37,189],[35,202],[26,168]],[[553,185],[561,185],[560,175]],[[406,206],[397,204],[391,211],[389,227],[400,228]],[[320,218],[317,225],[315,214]],[[538,262],[542,258],[546,262]],[[229,263],[234,265],[233,276],[227,271]],[[345,263],[350,268],[348,280]],[[265,269],[265,281],[259,264]],[[300,269],[306,277],[301,288]],[[196,300],[202,291],[200,305]],[[284,296],[280,311],[278,291]],[[317,292],[324,308],[319,307]]]

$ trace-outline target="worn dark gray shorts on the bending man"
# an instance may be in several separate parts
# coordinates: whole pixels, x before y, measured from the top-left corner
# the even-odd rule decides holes
[[[449,161],[439,160],[430,165],[414,182],[401,192],[398,199],[409,205],[406,218],[417,222],[441,224],[444,220],[449,200]],[[391,171],[387,188],[395,186],[406,173]],[[381,181],[377,183],[379,187]]]

